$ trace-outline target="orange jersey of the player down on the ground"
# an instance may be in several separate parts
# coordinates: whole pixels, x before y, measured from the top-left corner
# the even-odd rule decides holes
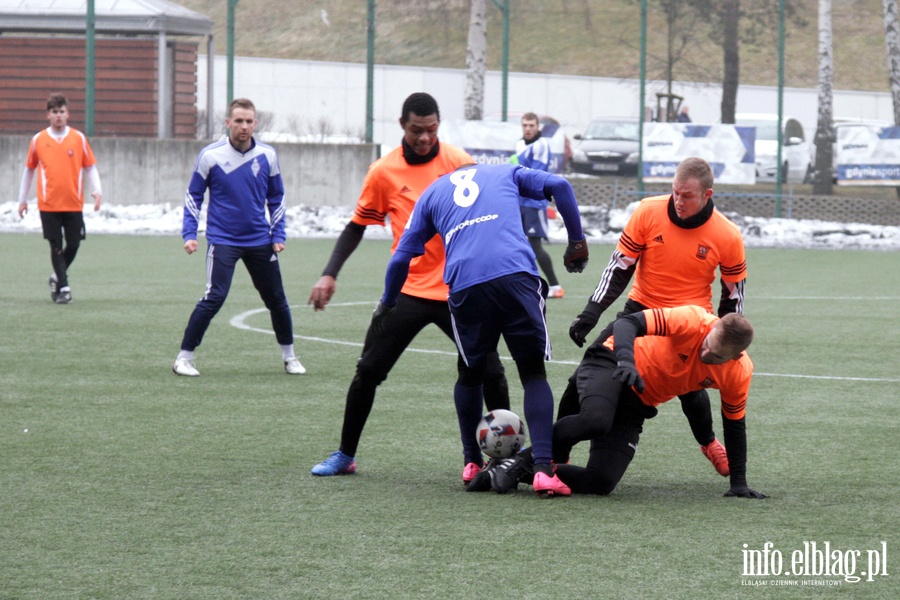
[[[722,365],[700,361],[700,347],[719,320],[700,306],[653,308],[643,311],[647,333],[634,340],[634,364],[644,380],[641,401],[659,406],[675,396],[701,388],[719,390],[722,414],[742,419],[750,393],[753,362],[746,352]],[[610,337],[604,345],[613,350]]]

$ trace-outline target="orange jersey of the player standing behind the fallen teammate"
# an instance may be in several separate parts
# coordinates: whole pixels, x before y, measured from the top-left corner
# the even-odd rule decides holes
[[[700,227],[678,227],[669,219],[669,198],[642,200],[619,238],[616,250],[638,259],[628,297],[644,306],[696,304],[712,312],[717,267],[723,281],[747,278],[741,231],[718,209]]]

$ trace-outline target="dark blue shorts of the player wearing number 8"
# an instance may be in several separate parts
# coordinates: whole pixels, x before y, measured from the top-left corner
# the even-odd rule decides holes
[[[517,362],[550,360],[546,297],[547,284],[530,273],[513,273],[451,292],[453,335],[466,365],[477,365],[495,351],[500,336]]]

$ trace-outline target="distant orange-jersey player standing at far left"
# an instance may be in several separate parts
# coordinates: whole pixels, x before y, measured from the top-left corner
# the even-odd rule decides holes
[[[28,158],[19,187],[19,217],[28,212],[28,191],[38,172],[38,210],[44,239],[50,242],[50,298],[56,304],[72,301],[68,269],[75,260],[84,232],[84,177],[91,182],[94,210],[100,210],[100,174],[97,159],[80,131],[68,126],[69,108],[65,96],[53,94],[47,100],[50,127],[31,138]],[[63,246],[65,241],[65,246]]]

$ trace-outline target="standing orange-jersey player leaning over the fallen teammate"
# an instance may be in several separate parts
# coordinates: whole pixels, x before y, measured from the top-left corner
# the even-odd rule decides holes
[[[672,193],[645,198],[629,218],[600,283],[584,311],[572,322],[569,336],[579,347],[600,315],[628,287],[624,310],[695,304],[712,312],[712,284],[721,275],[718,315],[743,313],[747,263],[740,229],[713,204],[713,172],[702,158],[686,158],[675,170]],[[607,327],[600,341],[611,333]],[[728,475],[725,449],[716,439],[706,390],[680,396],[681,407],[704,456],[722,476]],[[558,418],[578,412],[578,395],[570,382],[560,399]]]

